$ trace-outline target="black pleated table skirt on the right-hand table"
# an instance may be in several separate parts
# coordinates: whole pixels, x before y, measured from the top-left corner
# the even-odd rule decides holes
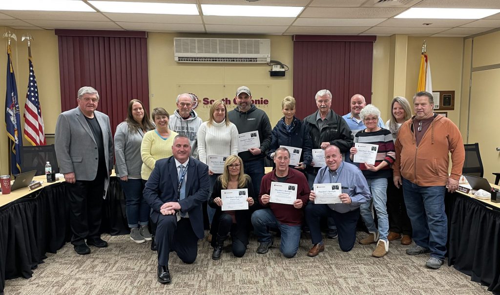
[[[500,294],[500,209],[459,194],[446,195],[448,265]]]

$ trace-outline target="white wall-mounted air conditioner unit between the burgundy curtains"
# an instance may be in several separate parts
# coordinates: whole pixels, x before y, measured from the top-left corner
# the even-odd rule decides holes
[[[174,38],[177,62],[267,63],[270,39]]]

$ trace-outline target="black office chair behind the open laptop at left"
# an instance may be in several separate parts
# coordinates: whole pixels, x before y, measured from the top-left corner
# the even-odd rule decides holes
[[[36,170],[35,175],[45,174],[45,164],[50,162],[52,172],[59,173],[53,144],[21,147],[21,172]]]

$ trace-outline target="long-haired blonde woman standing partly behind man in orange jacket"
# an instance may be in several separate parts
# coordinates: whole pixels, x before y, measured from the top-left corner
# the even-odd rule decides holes
[[[401,124],[411,118],[411,106],[408,100],[402,96],[392,98],[390,103],[390,119],[385,126],[392,133],[392,140],[395,141]],[[387,213],[389,214],[389,235],[387,239],[401,239],[401,244],[411,243],[411,222],[406,213],[404,204],[403,189],[397,188],[394,182],[389,179],[387,183]],[[402,237],[401,237],[402,234]]]

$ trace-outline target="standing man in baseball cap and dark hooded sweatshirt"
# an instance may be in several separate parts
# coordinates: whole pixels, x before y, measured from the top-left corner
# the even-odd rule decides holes
[[[259,147],[250,147],[238,153],[243,160],[245,173],[252,179],[254,191],[260,191],[260,181],[264,176],[265,151],[272,138],[271,124],[267,114],[251,103],[251,92],[248,87],[239,87],[234,98],[238,106],[227,112],[229,120],[236,125],[239,134],[257,131],[260,139]]]

